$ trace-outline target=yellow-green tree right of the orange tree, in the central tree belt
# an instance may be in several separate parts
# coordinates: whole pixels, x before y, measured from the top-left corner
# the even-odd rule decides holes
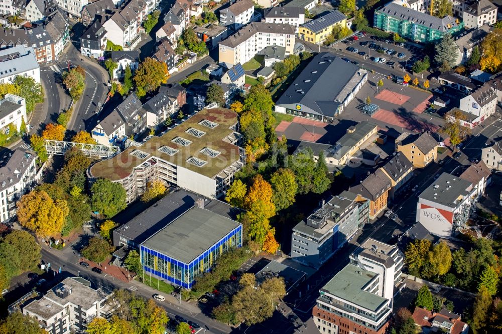
[[[298,191],[298,185],[295,180],[295,173],[287,168],[280,168],[270,178],[273,195],[272,201],[276,210],[289,208],[295,203],[295,196]]]

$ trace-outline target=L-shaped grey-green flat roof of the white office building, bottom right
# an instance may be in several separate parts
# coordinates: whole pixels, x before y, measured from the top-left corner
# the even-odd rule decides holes
[[[320,291],[328,292],[375,312],[382,304],[388,302],[388,299],[364,290],[375,275],[356,265],[347,264]]]

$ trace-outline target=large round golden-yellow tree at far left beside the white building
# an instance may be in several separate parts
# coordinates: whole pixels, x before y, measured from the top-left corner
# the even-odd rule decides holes
[[[17,203],[17,215],[21,226],[47,237],[61,232],[68,205],[65,200],[52,200],[45,191],[32,191]]]

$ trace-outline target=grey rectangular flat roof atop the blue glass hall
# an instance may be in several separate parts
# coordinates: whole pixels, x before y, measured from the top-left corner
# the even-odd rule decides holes
[[[142,245],[188,264],[239,225],[234,220],[194,206]]]

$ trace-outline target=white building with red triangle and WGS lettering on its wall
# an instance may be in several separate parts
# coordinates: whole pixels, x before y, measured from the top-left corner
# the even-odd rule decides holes
[[[470,181],[443,173],[419,195],[416,221],[431,234],[448,238],[465,227],[476,202],[477,191]]]

